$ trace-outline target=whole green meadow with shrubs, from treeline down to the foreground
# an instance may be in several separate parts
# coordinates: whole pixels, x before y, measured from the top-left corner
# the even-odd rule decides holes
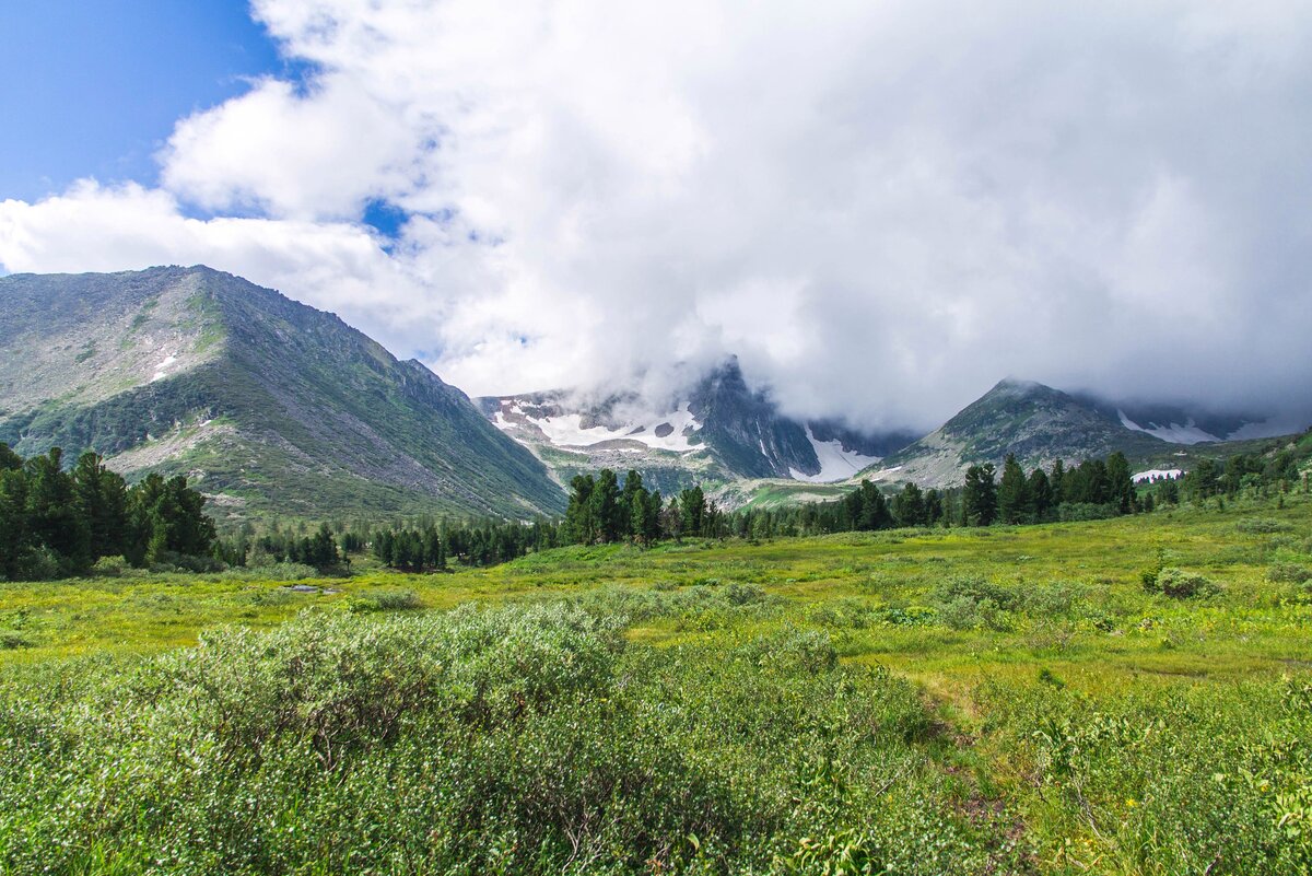
[[[0,873],[1312,868],[1305,496],[114,572],[0,584]]]

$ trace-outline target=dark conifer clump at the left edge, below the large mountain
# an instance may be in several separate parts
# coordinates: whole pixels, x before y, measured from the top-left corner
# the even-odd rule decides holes
[[[215,534],[203,506],[182,476],[129,488],[94,452],[64,471],[58,447],[24,459],[0,442],[0,577],[81,574],[113,556],[138,568],[209,559]]]

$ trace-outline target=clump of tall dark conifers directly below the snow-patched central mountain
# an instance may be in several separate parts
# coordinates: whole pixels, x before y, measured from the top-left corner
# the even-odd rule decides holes
[[[639,472],[630,469],[621,485],[615,472],[602,468],[596,477],[576,475],[569,481],[562,538],[569,544],[651,546],[685,535],[723,536],[726,526],[727,515],[706,500],[701,487],[681,490],[665,504],[660,490],[646,488]]]

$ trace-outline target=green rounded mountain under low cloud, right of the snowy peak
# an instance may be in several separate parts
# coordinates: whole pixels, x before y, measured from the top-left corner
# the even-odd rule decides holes
[[[1015,454],[1029,471],[1036,466],[1047,468],[1057,459],[1078,463],[1118,450],[1139,471],[1170,471],[1187,468],[1203,455],[1239,452],[1249,443],[1214,443],[1215,437],[1197,434],[1200,429],[1193,418],[1186,420],[1187,426],[1177,422],[1174,428],[1160,428],[1148,417],[1144,422],[1151,426],[1140,426],[1122,407],[1106,401],[1008,378],[930,434],[867,468],[862,476],[949,487],[960,484],[972,464],[991,462],[1001,469],[1008,454]],[[1242,430],[1245,422],[1242,417],[1216,416],[1208,425],[1220,424],[1214,428],[1221,429],[1229,424]]]

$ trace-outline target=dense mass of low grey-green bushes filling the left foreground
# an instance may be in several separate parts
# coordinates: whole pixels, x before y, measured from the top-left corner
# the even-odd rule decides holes
[[[630,649],[560,602],[307,612],[0,677],[0,872],[817,872],[855,846],[979,872],[912,768],[930,732],[815,631]]]

